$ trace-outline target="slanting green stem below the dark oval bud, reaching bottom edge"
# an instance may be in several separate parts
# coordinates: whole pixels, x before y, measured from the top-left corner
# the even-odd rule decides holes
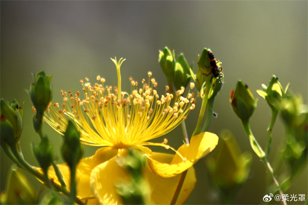
[[[259,145],[259,143],[256,140],[255,136],[253,135],[251,127],[249,125],[249,120],[242,120],[242,124],[243,124],[245,133],[246,133],[246,135],[249,138],[249,141],[251,143],[251,146],[252,146],[254,152],[258,155],[258,157],[263,162],[267,173],[272,177],[272,179],[273,179],[273,181],[274,181],[274,183],[275,183],[275,185],[277,187],[277,190],[278,190],[280,196],[282,197],[283,196],[283,192],[282,192],[282,190],[280,188],[280,185],[279,185],[279,183],[278,183],[278,181],[277,181],[277,179],[276,179],[276,177],[274,175],[273,168],[272,168],[271,164],[268,162],[267,156],[265,155],[264,151],[262,150],[262,147]],[[286,201],[281,201],[281,202],[282,202],[282,204],[286,204]]]

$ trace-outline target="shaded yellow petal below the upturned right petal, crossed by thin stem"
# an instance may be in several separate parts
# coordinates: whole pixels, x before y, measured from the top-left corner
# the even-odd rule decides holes
[[[153,153],[153,158],[164,162],[170,163],[174,155]],[[170,204],[176,192],[181,174],[175,177],[164,178],[157,176],[153,173],[147,164],[145,166],[145,176],[148,180],[151,191],[151,204]],[[188,169],[186,178],[184,180],[181,192],[179,194],[176,204],[182,204],[188,198],[196,184],[196,176],[194,167]]]

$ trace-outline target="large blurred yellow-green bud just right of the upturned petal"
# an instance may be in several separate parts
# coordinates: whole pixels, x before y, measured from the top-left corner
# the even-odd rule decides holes
[[[220,137],[215,154],[208,158],[207,167],[213,184],[224,194],[233,194],[248,177],[252,155],[241,153],[230,131],[222,131]]]

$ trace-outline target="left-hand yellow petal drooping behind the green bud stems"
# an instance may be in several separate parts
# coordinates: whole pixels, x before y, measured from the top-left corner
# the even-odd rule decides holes
[[[77,184],[77,197],[80,199],[92,198],[93,194],[90,189],[90,174],[95,166],[109,160],[117,155],[118,149],[112,147],[102,147],[91,157],[80,160],[76,168],[76,184]],[[70,190],[70,170],[67,163],[58,164],[59,170],[62,173],[67,189]],[[42,173],[40,168],[35,169]],[[48,177],[55,183],[60,185],[52,166],[48,168]]]

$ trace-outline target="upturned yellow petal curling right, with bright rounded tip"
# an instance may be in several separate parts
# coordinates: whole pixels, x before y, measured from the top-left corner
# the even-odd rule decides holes
[[[191,138],[190,144],[182,145],[178,154],[172,159],[170,163],[161,161],[152,156],[151,151],[144,147],[143,150],[149,159],[149,166],[152,172],[161,177],[174,177],[194,165],[200,158],[210,153],[218,144],[218,136],[213,133],[200,133]],[[146,150],[148,149],[148,150]]]

